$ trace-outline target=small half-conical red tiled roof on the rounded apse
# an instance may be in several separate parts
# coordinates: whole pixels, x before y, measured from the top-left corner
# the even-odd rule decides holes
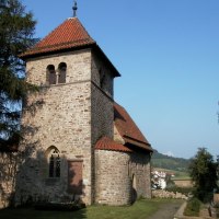
[[[124,151],[124,152],[132,152],[127,147],[117,143],[108,137],[102,137],[95,145],[96,150],[112,150],[112,151]]]

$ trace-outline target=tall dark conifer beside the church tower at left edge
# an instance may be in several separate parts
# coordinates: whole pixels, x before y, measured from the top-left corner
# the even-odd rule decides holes
[[[25,81],[25,64],[19,58],[36,43],[35,24],[19,0],[0,0],[0,151],[18,143],[22,103],[37,90]]]

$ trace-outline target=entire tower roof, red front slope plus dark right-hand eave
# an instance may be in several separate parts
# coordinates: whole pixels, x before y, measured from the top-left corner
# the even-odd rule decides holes
[[[62,51],[92,48],[104,58],[114,72],[114,77],[119,77],[119,72],[106,57],[96,42],[89,35],[78,18],[67,19],[45,38],[38,42],[33,48],[21,54],[22,59],[39,57],[44,55],[58,54]]]

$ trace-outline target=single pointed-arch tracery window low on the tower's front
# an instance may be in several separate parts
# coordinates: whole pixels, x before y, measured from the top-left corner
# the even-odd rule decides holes
[[[49,177],[60,177],[60,155],[59,150],[51,146],[47,149],[48,155],[48,176]]]

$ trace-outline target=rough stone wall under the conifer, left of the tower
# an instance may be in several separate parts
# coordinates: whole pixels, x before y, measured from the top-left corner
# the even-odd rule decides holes
[[[0,153],[0,209],[14,204],[18,153]]]

